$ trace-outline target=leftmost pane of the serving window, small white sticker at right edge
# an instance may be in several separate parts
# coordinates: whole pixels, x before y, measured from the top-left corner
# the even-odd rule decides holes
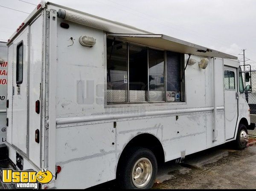
[[[107,102],[128,102],[127,43],[107,39]]]

